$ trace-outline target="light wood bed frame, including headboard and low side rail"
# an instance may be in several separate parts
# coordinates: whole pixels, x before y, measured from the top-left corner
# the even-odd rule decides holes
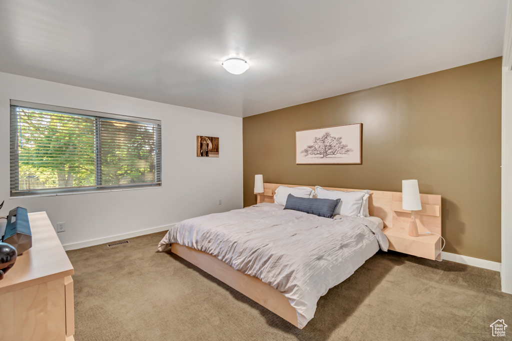
[[[264,193],[258,194],[257,202],[274,202],[275,189],[279,186],[288,187],[310,187],[314,189],[314,186],[303,186],[303,185],[281,185],[273,183],[264,184]],[[325,189],[343,190],[343,191],[356,191],[360,189],[348,189],[348,188],[333,188],[323,187]],[[418,231],[425,232],[430,231],[441,235],[441,196],[420,194],[421,206],[420,211],[416,211],[416,221],[418,224]],[[403,235],[404,231],[409,228],[409,221],[411,219],[411,211],[402,209],[402,194],[401,192],[387,192],[372,190],[369,198],[369,212],[370,216],[379,217],[384,222],[383,231],[391,236],[394,233],[392,231],[400,232]],[[395,233],[396,234],[396,233]],[[407,235],[407,233],[405,233]],[[431,238],[431,236],[426,236]],[[419,238],[419,237],[411,237]],[[388,237],[388,239],[390,239]],[[402,238],[403,243],[407,247],[409,238]],[[402,239],[397,239],[395,243],[401,242]],[[392,248],[390,240],[390,249]],[[440,242],[439,248],[436,242],[436,252],[439,249],[439,253],[434,255],[434,258],[439,257],[440,254]],[[231,266],[215,258],[214,256],[198,251],[186,246],[179,244],[172,244],[171,251],[179,255],[184,260],[194,264],[198,268],[204,270],[210,275],[214,276],[218,280],[229,285],[231,288],[239,291],[240,293],[249,297],[249,299],[259,303],[268,310],[272,311],[276,315],[281,316],[286,321],[298,327],[297,313],[293,308],[288,299],[277,289],[263,283],[260,279],[254,278],[243,272],[233,269]],[[399,250],[400,251],[400,250]],[[402,251],[403,252],[403,251]],[[412,253],[414,254],[414,253]],[[423,256],[421,256],[423,257]],[[427,257],[430,258],[430,257]]]

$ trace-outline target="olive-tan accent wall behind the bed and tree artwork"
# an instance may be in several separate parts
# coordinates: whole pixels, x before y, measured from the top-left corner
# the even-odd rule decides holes
[[[296,165],[295,131],[363,123],[361,165]],[[444,251],[501,261],[501,57],[243,119],[244,206],[265,182],[442,196]]]

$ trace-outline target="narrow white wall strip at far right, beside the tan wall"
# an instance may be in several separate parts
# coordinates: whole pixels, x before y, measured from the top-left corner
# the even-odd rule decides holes
[[[512,71],[502,68],[501,103],[501,290],[512,293]]]

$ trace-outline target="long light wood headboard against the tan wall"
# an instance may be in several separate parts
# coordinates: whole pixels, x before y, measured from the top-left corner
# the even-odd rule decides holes
[[[309,187],[307,185],[282,185],[276,183],[264,183],[265,192],[258,194],[258,203],[274,202],[275,190],[279,186],[287,187]],[[325,189],[355,191],[360,189],[323,187]],[[421,207],[416,211],[416,223],[418,231],[430,231],[441,234],[441,196],[436,194],[420,194]],[[382,190],[371,190],[368,201],[370,216],[379,217],[384,222],[385,228],[400,228],[409,230],[411,211],[402,209],[402,193],[387,192]]]

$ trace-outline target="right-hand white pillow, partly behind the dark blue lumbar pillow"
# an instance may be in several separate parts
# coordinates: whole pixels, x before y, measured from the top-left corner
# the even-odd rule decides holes
[[[334,210],[334,215],[369,217],[368,198],[369,190],[344,192],[341,190],[324,189],[320,186],[315,187],[316,197],[319,199],[341,199],[338,207]]]

